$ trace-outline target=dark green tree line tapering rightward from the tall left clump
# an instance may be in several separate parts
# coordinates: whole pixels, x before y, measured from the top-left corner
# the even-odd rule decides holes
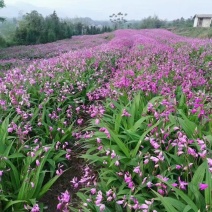
[[[109,32],[109,27],[85,26],[82,23],[71,23],[60,19],[56,11],[43,17],[37,11],[23,16],[18,22],[14,42],[18,45],[49,43],[56,40],[71,38],[73,35],[100,34]]]

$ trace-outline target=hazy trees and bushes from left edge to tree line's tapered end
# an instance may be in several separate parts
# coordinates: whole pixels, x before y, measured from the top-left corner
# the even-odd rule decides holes
[[[98,27],[80,21],[62,20],[55,11],[47,17],[32,11],[22,18],[8,19],[0,24],[0,46],[49,43],[71,38],[73,35],[94,35],[110,31],[108,26]]]

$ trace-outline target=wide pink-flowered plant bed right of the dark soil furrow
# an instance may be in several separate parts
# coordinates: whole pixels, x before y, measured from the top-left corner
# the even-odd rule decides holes
[[[140,37],[139,52],[132,47],[117,61],[111,93],[96,99],[105,112],[78,135],[88,165],[71,181],[83,187],[77,193],[82,211],[212,209],[211,47],[191,48],[172,36],[157,34],[164,42],[159,51]]]

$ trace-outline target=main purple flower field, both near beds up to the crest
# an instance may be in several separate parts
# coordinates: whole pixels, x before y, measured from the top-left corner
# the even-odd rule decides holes
[[[0,211],[46,211],[39,200],[75,157],[81,176],[55,211],[212,211],[212,40],[101,36],[39,45],[50,58],[2,74]]]

